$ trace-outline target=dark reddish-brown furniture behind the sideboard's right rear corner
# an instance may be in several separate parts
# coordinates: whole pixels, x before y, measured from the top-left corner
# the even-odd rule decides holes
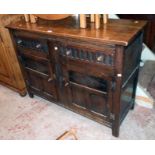
[[[147,20],[144,42],[155,53],[155,15],[154,14],[118,14],[122,19]]]

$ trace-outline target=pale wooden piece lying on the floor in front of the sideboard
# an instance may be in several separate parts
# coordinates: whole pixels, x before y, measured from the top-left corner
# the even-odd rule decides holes
[[[61,136],[59,136],[56,140],[65,140],[65,138],[72,136],[74,140],[78,140],[76,137],[76,129],[71,129],[69,131],[64,132]]]

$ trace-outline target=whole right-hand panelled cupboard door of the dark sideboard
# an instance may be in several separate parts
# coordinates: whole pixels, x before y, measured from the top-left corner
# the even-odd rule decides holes
[[[64,79],[64,89],[61,91],[64,90],[67,93],[68,106],[76,111],[85,111],[90,115],[108,118],[112,101],[110,96],[112,90],[109,88],[111,77],[104,77],[100,68],[91,67],[90,71],[86,71],[86,66],[82,62],[79,67],[77,60],[65,62],[61,59],[64,57],[59,57]]]

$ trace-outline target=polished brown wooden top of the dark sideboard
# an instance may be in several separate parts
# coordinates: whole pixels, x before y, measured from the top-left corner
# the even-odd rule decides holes
[[[100,29],[95,29],[94,23],[90,22],[82,29],[76,17],[68,17],[60,21],[38,20],[36,24],[20,20],[7,28],[127,46],[145,25],[146,21],[142,20],[109,19]]]

